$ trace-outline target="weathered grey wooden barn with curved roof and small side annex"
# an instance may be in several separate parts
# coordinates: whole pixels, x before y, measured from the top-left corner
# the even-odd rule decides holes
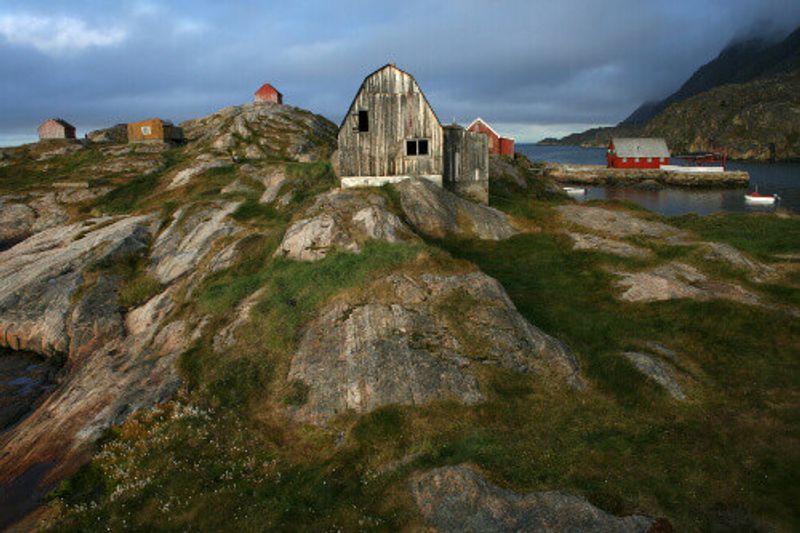
[[[486,136],[442,127],[414,77],[393,64],[364,79],[339,128],[343,187],[418,177],[486,202]]]

